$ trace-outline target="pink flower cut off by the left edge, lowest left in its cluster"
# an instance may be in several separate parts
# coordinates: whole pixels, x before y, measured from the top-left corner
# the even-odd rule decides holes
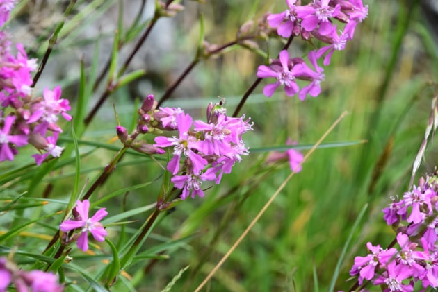
[[[15,116],[8,116],[4,119],[3,129],[0,129],[0,161],[13,160],[15,149],[10,148],[9,144],[24,146],[27,144],[26,135],[10,135],[10,128],[13,126]]]

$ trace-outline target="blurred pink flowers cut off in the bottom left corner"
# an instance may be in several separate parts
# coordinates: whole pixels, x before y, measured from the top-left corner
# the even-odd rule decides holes
[[[16,291],[60,292],[64,286],[58,284],[58,277],[53,273],[41,270],[26,272],[4,257],[0,257],[0,292],[6,292],[10,284],[15,285]],[[30,289],[30,290],[29,290]]]

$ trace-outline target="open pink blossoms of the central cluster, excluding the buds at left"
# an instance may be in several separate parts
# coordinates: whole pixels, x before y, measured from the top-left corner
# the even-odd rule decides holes
[[[182,189],[181,198],[195,195],[204,196],[201,184],[204,181],[220,183],[224,173],[231,173],[235,162],[241,161],[241,155],[248,155],[248,148],[242,135],[252,130],[250,119],[228,117],[220,103],[209,104],[207,121],[194,121],[189,114],[181,110],[161,108],[163,112],[173,114],[161,119],[163,126],[175,123],[178,136],[155,138],[155,147],[173,148],[173,157],[168,162],[168,171],[174,175],[171,181]],[[169,117],[174,117],[170,121]],[[193,130],[191,127],[194,126]],[[184,164],[180,168],[181,159]],[[181,175],[177,173],[182,172]]]

